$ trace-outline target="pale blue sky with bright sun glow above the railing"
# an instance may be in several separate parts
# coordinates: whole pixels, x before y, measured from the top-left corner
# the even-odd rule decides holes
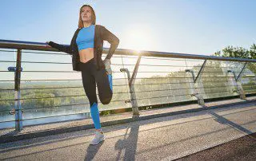
[[[1,0],[0,39],[70,44],[79,8],[92,6],[96,24],[119,49],[211,55],[256,42],[255,0]],[[104,42],[104,47],[109,47]]]

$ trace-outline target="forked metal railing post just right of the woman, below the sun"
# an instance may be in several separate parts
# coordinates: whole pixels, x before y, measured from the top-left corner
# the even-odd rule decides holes
[[[135,116],[135,117],[139,116],[139,112],[138,112],[138,104],[137,104],[137,100],[136,100],[136,94],[135,94],[135,90],[134,90],[134,81],[135,81],[136,75],[138,73],[138,66],[139,66],[140,61],[141,61],[141,56],[138,56],[138,60],[134,67],[134,72],[133,72],[132,77],[130,77],[130,72],[128,69],[120,69],[121,72],[127,73],[127,77],[128,77],[128,81],[129,81],[129,91],[130,91],[130,103],[132,105],[133,116]]]

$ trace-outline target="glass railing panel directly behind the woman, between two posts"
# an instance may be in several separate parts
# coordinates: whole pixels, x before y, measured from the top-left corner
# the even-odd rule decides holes
[[[38,123],[46,123],[46,117],[73,120],[90,116],[86,114],[90,112],[90,104],[82,86],[81,72],[73,71],[70,55],[28,50],[22,55],[21,93],[25,124],[32,124],[30,120],[33,118],[38,118]],[[130,96],[126,76],[120,72],[121,59],[115,56],[111,59],[114,94],[110,104],[103,105],[98,99],[99,111],[130,107],[125,103]],[[98,95],[98,90],[96,93]]]

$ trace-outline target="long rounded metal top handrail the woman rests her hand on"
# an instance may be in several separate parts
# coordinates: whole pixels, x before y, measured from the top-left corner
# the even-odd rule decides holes
[[[42,51],[58,51],[46,46],[43,42],[33,41],[13,41],[0,39],[0,48],[5,49],[30,49],[30,50],[42,50]],[[103,53],[107,53],[109,48],[103,48]],[[256,59],[237,58],[237,57],[216,57],[207,55],[197,55],[188,53],[167,53],[157,51],[146,50],[132,50],[132,49],[116,49],[114,54],[118,55],[141,55],[149,57],[174,57],[174,58],[187,58],[187,59],[199,59],[199,60],[212,60],[212,61],[240,61],[240,62],[256,62]]]

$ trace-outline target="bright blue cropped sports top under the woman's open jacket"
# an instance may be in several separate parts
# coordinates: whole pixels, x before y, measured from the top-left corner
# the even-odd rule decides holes
[[[76,39],[79,51],[81,49],[94,48],[94,29],[95,25],[80,29]]]

